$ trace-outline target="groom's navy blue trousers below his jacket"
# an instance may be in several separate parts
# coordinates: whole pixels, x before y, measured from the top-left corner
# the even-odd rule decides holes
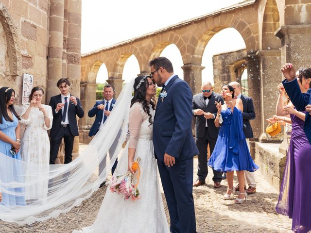
[[[195,212],[192,196],[193,158],[165,166],[157,160],[161,182],[169,208],[172,233],[195,233]]]

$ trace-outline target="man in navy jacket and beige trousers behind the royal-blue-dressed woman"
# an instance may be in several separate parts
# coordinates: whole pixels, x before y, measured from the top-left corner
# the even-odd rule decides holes
[[[253,99],[248,97],[248,96],[244,96],[241,94],[240,83],[231,82],[231,83],[229,83],[229,85],[234,88],[235,98],[237,98],[237,99],[240,98],[242,100],[242,103],[243,103],[243,112],[242,112],[243,132],[244,132],[244,135],[246,138],[248,150],[250,150],[249,138],[254,137],[254,134],[253,134],[252,126],[251,126],[249,120],[253,120],[256,117]],[[247,194],[255,193],[257,182],[255,180],[254,172],[244,171],[244,175],[245,175],[246,183],[248,184],[248,188],[246,189],[246,193]],[[235,188],[236,188],[236,190],[239,190],[239,185],[236,186]],[[244,187],[244,188],[246,188],[246,187]]]

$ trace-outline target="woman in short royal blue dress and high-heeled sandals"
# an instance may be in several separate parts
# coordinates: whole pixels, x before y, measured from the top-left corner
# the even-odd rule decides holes
[[[244,170],[255,171],[257,166],[247,147],[243,126],[243,103],[241,99],[234,99],[234,89],[232,86],[224,84],[222,86],[222,96],[225,104],[217,104],[217,116],[215,118],[216,127],[220,127],[215,149],[208,161],[208,166],[214,170],[227,173],[228,188],[224,196],[225,200],[234,197],[233,173],[237,172],[240,193],[235,203],[246,201],[247,193],[244,190]]]

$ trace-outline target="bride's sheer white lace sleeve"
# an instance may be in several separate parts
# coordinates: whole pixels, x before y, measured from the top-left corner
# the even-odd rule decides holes
[[[129,116],[129,132],[130,132],[130,141],[129,148],[135,148],[137,146],[139,131],[141,123],[144,119],[144,111],[139,103],[135,103],[130,110]]]

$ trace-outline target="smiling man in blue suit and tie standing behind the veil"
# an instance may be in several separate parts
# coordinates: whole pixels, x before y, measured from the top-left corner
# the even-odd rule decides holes
[[[103,95],[104,95],[104,100],[101,101],[96,101],[94,107],[92,109],[90,109],[88,111],[88,117],[93,117],[96,115],[95,117],[95,121],[88,133],[88,136],[94,136],[104,125],[107,117],[110,115],[113,106],[116,103],[116,100],[113,99],[113,88],[111,85],[105,85],[104,86],[104,91],[103,91]],[[115,148],[113,145],[111,148]],[[109,150],[109,156],[112,156],[114,153],[114,151],[112,149]],[[114,165],[111,168],[111,173],[113,174],[113,172],[115,171],[116,167],[118,164],[118,159],[116,160],[116,162],[114,163]],[[102,171],[104,170],[104,167],[106,166],[106,160],[104,158],[104,160],[100,163],[99,165],[99,174],[102,173]],[[102,183],[100,185],[100,187],[102,187],[104,185],[104,183]]]

